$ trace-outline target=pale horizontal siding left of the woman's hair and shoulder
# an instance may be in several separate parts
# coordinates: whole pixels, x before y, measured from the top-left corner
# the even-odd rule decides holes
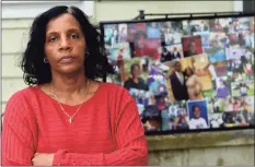
[[[31,22],[32,19],[2,20],[2,109],[12,94],[25,86],[18,63]]]

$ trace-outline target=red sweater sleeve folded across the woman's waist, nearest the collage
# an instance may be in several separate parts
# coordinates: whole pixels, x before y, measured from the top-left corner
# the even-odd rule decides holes
[[[77,154],[59,150],[53,165],[90,166],[144,166],[148,165],[148,148],[137,105],[124,91],[116,119],[115,140],[117,150],[109,154]]]

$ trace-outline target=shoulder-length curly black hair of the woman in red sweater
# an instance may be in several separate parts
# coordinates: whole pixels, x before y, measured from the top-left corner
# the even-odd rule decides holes
[[[100,27],[92,25],[85,13],[79,8],[57,5],[36,16],[32,24],[30,39],[21,60],[25,84],[40,85],[51,81],[50,65],[44,63],[46,27],[49,21],[63,13],[71,13],[79,22],[82,33],[85,34],[86,51],[89,52],[89,55],[84,55],[85,76],[94,80],[115,73],[114,68],[107,60]]]

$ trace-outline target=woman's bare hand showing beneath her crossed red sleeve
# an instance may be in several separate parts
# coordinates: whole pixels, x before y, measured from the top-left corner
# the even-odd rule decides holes
[[[35,153],[32,164],[33,166],[53,166],[55,154]]]

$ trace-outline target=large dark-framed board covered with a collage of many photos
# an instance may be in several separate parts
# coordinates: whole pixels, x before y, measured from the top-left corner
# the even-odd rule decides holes
[[[254,126],[254,16],[104,24],[146,132]]]

